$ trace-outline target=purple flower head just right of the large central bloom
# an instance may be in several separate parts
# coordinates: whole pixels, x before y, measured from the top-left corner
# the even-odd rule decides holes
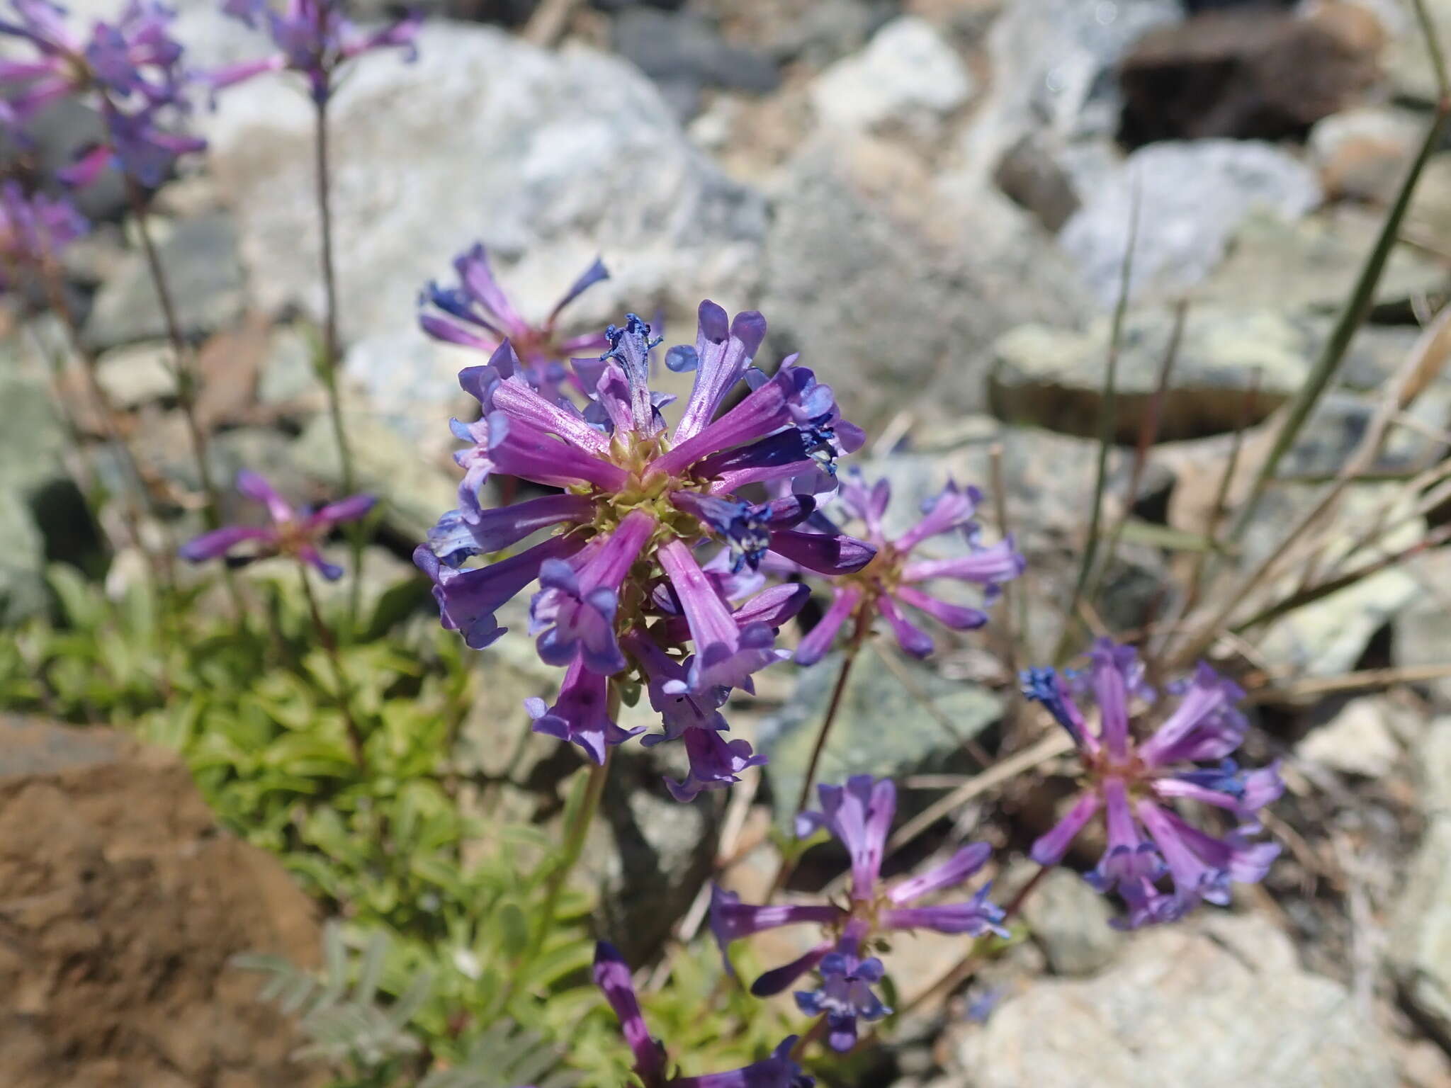
[[[878,480],[868,487],[860,476],[853,473],[842,485],[840,502],[852,516],[865,522],[866,538],[876,548],[876,559],[856,574],[837,580],[826,614],[797,647],[797,663],[815,664],[831,648],[837,631],[847,619],[855,617],[859,622],[865,622],[872,615],[887,621],[904,651],[913,657],[929,656],[933,651],[933,638],[913,622],[904,605],[956,631],[982,627],[988,621],[987,612],[930,596],[921,588],[921,583],[932,579],[956,579],[985,586],[991,598],[1001,583],[1023,573],[1023,557],[1013,547],[1011,537],[991,545],[977,543],[978,529],[972,515],[981,499],[982,495],[977,487],[963,489],[949,483],[927,505],[921,521],[895,540],[887,540],[882,515],[891,500],[891,485]],[[821,515],[815,515],[811,525],[818,529],[836,529]],[[963,534],[972,544],[971,554],[956,559],[913,559],[911,553],[918,544],[943,532]],[[801,544],[821,538],[808,532],[797,535]],[[786,548],[778,551],[801,566],[811,566],[800,553],[791,554]]]

